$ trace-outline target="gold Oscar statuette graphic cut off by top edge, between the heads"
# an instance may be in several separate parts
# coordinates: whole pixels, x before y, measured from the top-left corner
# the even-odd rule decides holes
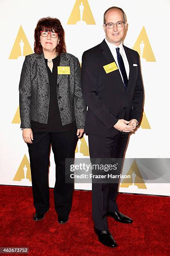
[[[87,0],[76,0],[68,25],[96,25]]]

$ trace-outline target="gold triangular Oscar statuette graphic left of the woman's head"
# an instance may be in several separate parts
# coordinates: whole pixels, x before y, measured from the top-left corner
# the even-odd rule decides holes
[[[9,59],[25,59],[26,55],[32,54],[33,50],[30,47],[28,39],[20,26],[17,37],[15,39],[13,49],[10,53]]]

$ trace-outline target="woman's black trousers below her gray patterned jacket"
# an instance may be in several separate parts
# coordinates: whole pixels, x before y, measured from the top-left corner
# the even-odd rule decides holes
[[[65,183],[65,159],[73,158],[78,138],[76,129],[63,132],[33,131],[33,143],[27,143],[33,189],[33,202],[37,213],[48,211],[49,205],[49,153],[52,146],[56,164],[56,183],[53,190],[58,215],[68,215],[72,205],[74,184]]]

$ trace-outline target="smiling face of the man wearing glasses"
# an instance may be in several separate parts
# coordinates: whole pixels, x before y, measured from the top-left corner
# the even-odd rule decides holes
[[[117,23],[118,21],[124,21],[123,13],[119,9],[111,9],[105,15],[106,24],[107,23]],[[118,28],[116,24],[113,28],[107,28],[103,26],[104,32],[106,34],[107,41],[111,44],[115,44],[119,46],[124,37],[124,33],[126,31],[126,23],[125,26]]]

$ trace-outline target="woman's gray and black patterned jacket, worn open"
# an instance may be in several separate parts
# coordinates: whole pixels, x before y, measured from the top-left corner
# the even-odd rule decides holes
[[[79,60],[61,53],[60,66],[70,67],[70,74],[58,74],[57,99],[62,125],[76,120],[77,129],[84,128],[86,105],[80,82]],[[47,124],[50,87],[44,55],[25,56],[19,84],[20,128],[31,128],[31,120]]]

